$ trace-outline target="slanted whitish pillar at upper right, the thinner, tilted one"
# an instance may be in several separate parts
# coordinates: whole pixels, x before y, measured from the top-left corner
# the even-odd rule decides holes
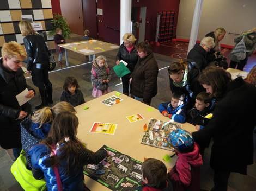
[[[194,6],[194,16],[192,21],[192,27],[190,32],[190,43],[188,44],[187,53],[194,47],[197,42],[197,35],[200,23],[200,17],[202,12],[203,0],[196,0],[196,5]]]

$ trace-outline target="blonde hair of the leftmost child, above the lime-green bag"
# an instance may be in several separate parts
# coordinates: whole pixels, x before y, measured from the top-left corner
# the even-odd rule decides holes
[[[53,121],[51,107],[44,107],[40,110],[35,111],[31,120],[34,123],[40,124],[38,128],[41,128],[42,124],[44,123],[51,123]]]

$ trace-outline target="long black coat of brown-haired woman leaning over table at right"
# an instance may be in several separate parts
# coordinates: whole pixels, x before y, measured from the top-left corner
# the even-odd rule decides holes
[[[256,125],[256,87],[236,78],[228,84],[223,98],[215,105],[214,116],[204,129],[193,132],[194,141],[211,148],[213,169],[246,174],[253,164],[253,129]]]

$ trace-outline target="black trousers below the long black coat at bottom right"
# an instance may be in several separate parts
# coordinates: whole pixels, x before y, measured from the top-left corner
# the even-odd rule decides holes
[[[229,170],[214,170],[214,187],[211,191],[227,191]]]

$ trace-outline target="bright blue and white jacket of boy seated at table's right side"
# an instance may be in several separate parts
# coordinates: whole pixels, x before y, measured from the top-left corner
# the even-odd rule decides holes
[[[169,118],[173,119],[175,122],[178,123],[185,123],[186,120],[186,111],[185,111],[185,104],[181,104],[176,109],[173,109],[172,104],[169,102],[162,103],[158,106],[160,113],[163,114],[166,111],[169,115]]]

